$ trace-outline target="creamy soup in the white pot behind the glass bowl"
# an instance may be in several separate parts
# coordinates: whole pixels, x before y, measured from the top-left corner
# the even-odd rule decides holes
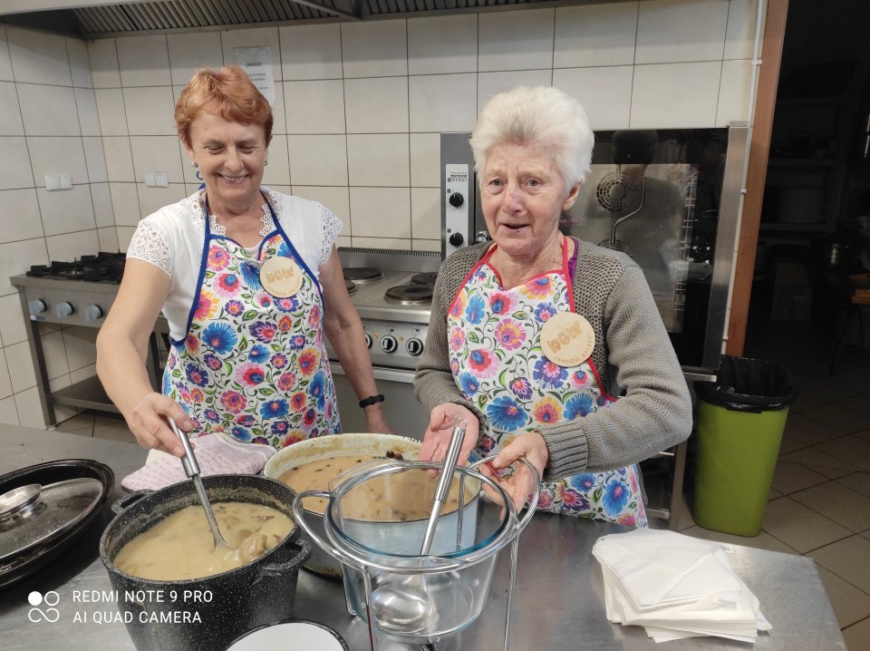
[[[314,462],[302,463],[285,471],[278,479],[284,481],[297,493],[302,491],[329,491],[329,482],[344,471],[377,457],[365,454],[328,457]],[[465,502],[477,494],[465,486]],[[381,477],[363,481],[352,491],[344,494],[342,515],[353,520],[396,522],[404,520],[428,520],[432,510],[432,498],[438,477],[430,477],[429,471],[409,470],[391,472]],[[308,498],[304,507],[315,513],[323,513],[327,501],[323,498]],[[459,480],[454,478],[442,513],[456,510],[459,504]]]

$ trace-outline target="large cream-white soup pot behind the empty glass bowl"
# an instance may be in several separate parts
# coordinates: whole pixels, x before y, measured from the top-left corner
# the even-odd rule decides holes
[[[307,462],[315,462],[331,457],[342,457],[351,454],[363,454],[372,457],[387,457],[416,461],[420,459],[422,443],[414,439],[393,434],[334,434],[321,436],[294,443],[276,452],[268,462],[263,474],[272,479],[279,479],[286,471]],[[320,536],[325,535],[323,512],[305,509],[311,517],[314,530]],[[424,523],[425,527],[425,523]],[[419,539],[422,539],[420,534]],[[317,546],[313,546],[311,558],[305,562],[305,568],[325,577],[342,578],[342,564]]]

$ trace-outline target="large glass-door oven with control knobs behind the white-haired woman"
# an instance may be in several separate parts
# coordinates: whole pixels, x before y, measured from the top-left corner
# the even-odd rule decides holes
[[[748,127],[595,131],[592,170],[559,228],[643,268],[689,379],[713,380],[727,327]],[[488,239],[469,133],[442,133],[442,253]]]

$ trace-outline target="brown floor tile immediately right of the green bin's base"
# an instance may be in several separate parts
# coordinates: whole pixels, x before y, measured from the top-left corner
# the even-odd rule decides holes
[[[762,529],[801,553],[844,539],[851,533],[788,497],[768,502]]]

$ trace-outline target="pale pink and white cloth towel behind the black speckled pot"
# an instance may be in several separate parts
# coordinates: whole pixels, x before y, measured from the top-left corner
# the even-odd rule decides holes
[[[224,433],[205,434],[191,442],[202,477],[218,474],[256,475],[276,452],[271,445],[238,442]],[[178,457],[151,450],[145,465],[121,480],[121,488],[125,491],[158,491],[187,479]]]

